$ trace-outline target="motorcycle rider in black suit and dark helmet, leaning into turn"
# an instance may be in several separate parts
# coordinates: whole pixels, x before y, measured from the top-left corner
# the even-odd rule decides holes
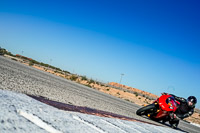
[[[194,108],[195,104],[197,103],[197,99],[195,96],[189,96],[187,99],[185,99],[182,97],[177,97],[173,94],[169,95],[172,95],[175,98],[175,100],[180,103],[178,104],[178,108],[175,112],[175,115],[170,116],[171,119],[169,120],[169,123],[172,126],[172,128],[177,128],[179,124],[179,119],[184,119],[186,117],[191,116],[194,113]]]

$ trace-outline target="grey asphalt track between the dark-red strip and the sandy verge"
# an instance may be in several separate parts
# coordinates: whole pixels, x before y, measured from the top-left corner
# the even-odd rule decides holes
[[[34,69],[2,56],[0,56],[0,89],[43,96],[58,102],[86,106],[161,126],[168,126],[137,116],[135,112],[140,106],[136,104]],[[200,132],[199,127],[184,121],[180,122],[179,128],[185,132]]]

